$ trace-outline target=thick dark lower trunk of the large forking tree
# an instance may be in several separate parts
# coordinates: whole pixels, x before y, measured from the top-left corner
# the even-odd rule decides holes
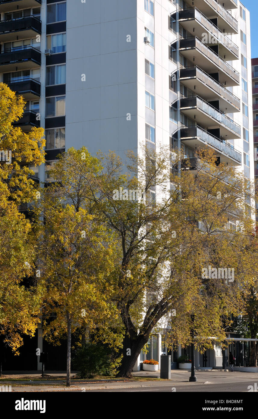
[[[138,336],[137,339],[124,337],[123,358],[117,377],[132,378],[132,370],[139,357],[141,349],[147,343],[149,336]]]

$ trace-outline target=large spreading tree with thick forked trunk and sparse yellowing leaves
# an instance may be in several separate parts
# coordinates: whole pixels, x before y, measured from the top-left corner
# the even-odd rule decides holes
[[[196,154],[195,171],[185,160],[180,176],[177,161],[162,147],[157,152],[143,147],[138,156],[129,152],[127,173],[114,153],[100,158],[97,193],[94,187],[91,192],[96,214],[119,241],[114,277],[125,330],[119,376],[131,377],[155,330],[168,330],[168,339],[179,344],[190,342],[191,313],[199,347],[211,347],[210,336],[225,338],[242,303],[241,285],[248,281],[239,263],[250,224],[243,205],[247,189],[234,167],[217,166],[207,150]],[[78,170],[87,179],[83,168]],[[139,191],[138,197],[132,191]],[[227,269],[228,277],[216,276],[218,269]]]

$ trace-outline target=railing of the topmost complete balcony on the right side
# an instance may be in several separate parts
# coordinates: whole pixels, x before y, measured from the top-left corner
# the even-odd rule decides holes
[[[236,58],[239,57],[239,50],[236,44],[232,42],[228,36],[219,30],[203,13],[195,7],[185,8],[179,10],[179,21],[195,19],[198,21],[207,31],[207,44],[222,44],[225,48],[229,49]]]

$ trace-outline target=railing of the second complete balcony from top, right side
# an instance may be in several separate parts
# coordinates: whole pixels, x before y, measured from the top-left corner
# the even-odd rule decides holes
[[[186,38],[182,38],[179,41],[179,49],[193,49],[195,48],[201,54],[212,61],[214,65],[216,65],[220,70],[230,76],[237,84],[239,84],[239,72],[235,70],[230,64],[228,64],[224,59],[219,57],[211,48],[209,48],[206,44],[204,44],[201,39],[197,38],[197,36],[189,36]]]

